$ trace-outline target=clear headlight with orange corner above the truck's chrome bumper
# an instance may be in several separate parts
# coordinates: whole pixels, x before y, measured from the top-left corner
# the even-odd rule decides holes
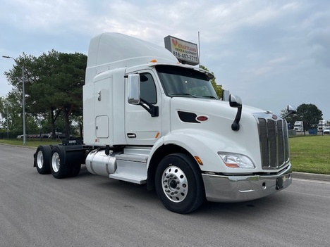
[[[255,168],[252,160],[239,153],[218,153],[226,166],[231,168]]]

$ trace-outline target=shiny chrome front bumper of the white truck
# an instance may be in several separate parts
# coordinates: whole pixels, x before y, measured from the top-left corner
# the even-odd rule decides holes
[[[202,174],[207,201],[241,202],[269,196],[288,187],[291,164],[277,175],[223,176]]]

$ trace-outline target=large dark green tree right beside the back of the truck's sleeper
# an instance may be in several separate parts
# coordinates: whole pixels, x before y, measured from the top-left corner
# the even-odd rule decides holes
[[[63,115],[66,139],[70,137],[70,116],[82,115],[82,85],[85,78],[87,56],[82,53],[59,53],[50,51],[42,54],[38,60],[41,80],[32,86],[37,95],[45,95],[44,99],[34,99],[35,110],[47,105],[53,137],[55,137],[55,121]],[[36,95],[36,96],[37,96]]]

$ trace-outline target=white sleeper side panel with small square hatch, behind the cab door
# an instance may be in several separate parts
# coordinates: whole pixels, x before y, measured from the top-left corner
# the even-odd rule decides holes
[[[126,144],[125,68],[108,70],[83,87],[84,141],[89,145]]]

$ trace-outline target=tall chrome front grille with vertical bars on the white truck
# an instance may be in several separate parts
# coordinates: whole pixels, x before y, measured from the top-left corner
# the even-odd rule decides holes
[[[289,160],[288,127],[286,120],[257,118],[262,169],[277,169]]]

